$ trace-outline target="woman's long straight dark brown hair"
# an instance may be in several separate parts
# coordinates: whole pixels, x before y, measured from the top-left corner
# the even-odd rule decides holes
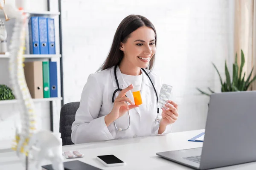
[[[157,45],[157,33],[156,33],[156,29],[154,28],[154,25],[147,18],[141,15],[128,15],[122,20],[122,22],[119,24],[118,28],[116,29],[116,33],[114,35],[108,57],[97,71],[111,68],[114,65],[119,65],[124,56],[123,51],[120,50],[119,48],[121,42],[125,43],[127,39],[130,37],[130,34],[142,26],[147,26],[154,30],[155,45]],[[155,54],[153,55],[153,57],[149,62],[149,65],[148,65],[149,70],[151,70],[154,66],[154,58],[155,58]]]

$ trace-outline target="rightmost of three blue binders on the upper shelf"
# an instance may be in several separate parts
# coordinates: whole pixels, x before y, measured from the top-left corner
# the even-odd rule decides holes
[[[53,18],[47,18],[47,32],[49,54],[55,54],[55,30]]]

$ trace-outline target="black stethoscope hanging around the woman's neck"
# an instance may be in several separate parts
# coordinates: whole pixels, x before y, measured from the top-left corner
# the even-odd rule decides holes
[[[115,74],[117,89],[114,91],[113,96],[112,96],[112,103],[113,103],[113,105],[114,105],[114,97],[115,97],[116,92],[117,92],[117,91],[122,91],[122,89],[119,87],[119,82],[118,82],[118,79],[117,79],[117,77],[116,77],[116,67],[117,67],[117,65],[115,65],[114,74]],[[151,84],[152,84],[152,86],[153,86],[153,88],[154,88],[154,92],[155,92],[155,94],[156,94],[156,96],[157,96],[157,91],[156,91],[156,88],[154,87],[154,84],[153,84],[151,78],[149,77],[148,73],[144,70],[144,68],[141,68],[141,69],[144,71],[144,73],[147,75],[148,79],[150,80],[150,82],[151,82]],[[126,95],[125,95],[125,96],[126,96]],[[127,96],[126,96],[126,97],[127,97]],[[157,96],[157,102],[158,102],[158,96]],[[127,130],[127,129],[130,127],[130,122],[131,122],[131,121],[130,121],[130,113],[129,113],[129,111],[128,111],[128,116],[129,116],[129,125],[128,125],[128,127],[127,127],[126,129],[117,128],[117,127],[116,127],[116,122],[114,121],[114,125],[115,125],[116,130],[124,131],[124,130]],[[155,122],[160,122],[160,119],[159,119],[159,108],[157,108],[157,117],[156,117]]]

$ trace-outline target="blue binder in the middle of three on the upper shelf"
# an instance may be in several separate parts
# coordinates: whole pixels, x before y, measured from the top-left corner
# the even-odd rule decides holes
[[[47,40],[47,18],[38,17],[40,54],[49,54]]]

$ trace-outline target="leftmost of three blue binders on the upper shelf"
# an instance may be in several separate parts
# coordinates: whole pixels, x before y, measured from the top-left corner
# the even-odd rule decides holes
[[[29,53],[40,54],[38,17],[29,20]]]

